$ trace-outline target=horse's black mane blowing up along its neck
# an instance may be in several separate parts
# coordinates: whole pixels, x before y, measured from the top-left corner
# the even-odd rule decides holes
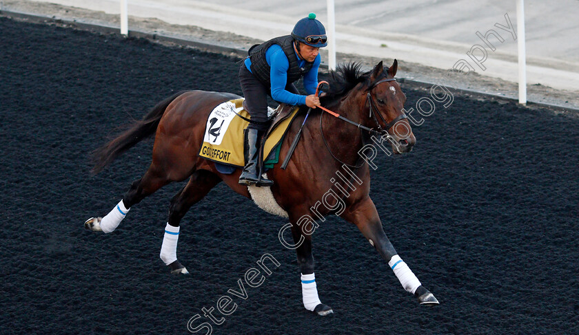
[[[369,72],[362,72],[362,65],[357,62],[341,64],[334,71],[329,72],[329,87],[324,85],[321,88],[326,93],[321,100],[323,105],[342,98],[358,83],[362,83],[369,78]]]

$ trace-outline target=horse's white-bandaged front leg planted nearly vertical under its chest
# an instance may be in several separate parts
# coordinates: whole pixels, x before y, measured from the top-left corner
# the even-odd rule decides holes
[[[290,215],[293,216],[293,215]],[[318,287],[314,274],[314,255],[312,255],[313,227],[308,227],[306,222],[292,220],[292,238],[294,246],[297,246],[298,264],[301,270],[302,301],[306,310],[318,315],[325,316],[334,313],[331,307],[322,303],[318,297]]]

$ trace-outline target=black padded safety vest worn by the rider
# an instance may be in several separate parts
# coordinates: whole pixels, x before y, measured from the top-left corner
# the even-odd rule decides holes
[[[287,57],[287,61],[290,62],[290,67],[287,69],[287,84],[294,83],[294,81],[306,74],[309,69],[312,69],[313,62],[305,62],[304,67],[298,65],[298,56],[294,51],[294,38],[291,35],[276,37],[262,44],[254,45],[249,50],[252,61],[252,74],[267,87],[271,87],[272,83],[270,82],[271,67],[267,64],[265,52],[268,47],[274,44],[281,46],[283,53]]]

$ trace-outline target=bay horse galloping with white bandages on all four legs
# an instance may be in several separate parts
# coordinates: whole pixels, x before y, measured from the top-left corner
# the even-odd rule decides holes
[[[368,147],[372,146],[368,144],[369,138],[372,137],[375,144],[389,142],[392,151],[398,154],[411,151],[416,143],[403,111],[406,96],[394,78],[398,62],[394,60],[386,70],[382,62],[368,72],[362,72],[360,67],[359,63],[348,63],[329,74],[329,89],[321,97],[321,105],[341,118],[332,117],[320,108],[312,109],[305,125],[305,113],[300,111],[296,116],[281,144],[280,158],[285,158],[290,142],[303,125],[301,140],[286,169],[276,164],[266,172],[267,178],[274,180],[271,187],[240,185],[241,169],[230,174],[221,173],[214,162],[199,157],[210,112],[222,102],[239,96],[185,91],[159,102],[142,120],[135,121],[128,130],[94,152],[93,171],[98,173],[118,155],[155,134],[148,171],[132,182],[121,202],[108,215],[88,219],[85,228],[110,233],[143,198],[170,182],[189,178],[171,200],[161,246],[161,259],[171,272],[187,274],[187,269],[176,258],[179,223],[192,205],[223,181],[233,191],[250,199],[253,197],[256,203],[258,196],[252,190],[269,196],[270,205],[275,209],[268,211],[289,218],[290,223],[286,226],[291,230],[294,244],[285,246],[296,250],[307,310],[319,315],[332,313],[332,309],[318,299],[312,256],[315,221],[323,221],[325,216],[332,214],[360,229],[369,244],[389,263],[405,290],[414,294],[421,305],[438,305],[434,295],[398,256],[369,197],[369,160],[367,154],[362,154],[364,149],[372,149]],[[341,177],[336,178],[336,175]]]

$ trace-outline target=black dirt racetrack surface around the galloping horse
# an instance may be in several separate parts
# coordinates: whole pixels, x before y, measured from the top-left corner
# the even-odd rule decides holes
[[[182,221],[188,276],[159,259],[183,184],[143,200],[112,234],[82,225],[119,202],[152,142],[96,176],[90,151],[174,91],[240,94],[238,59],[6,18],[0,32],[2,334],[188,334],[265,253],[280,266],[234,297],[213,334],[579,334],[576,116],[456,94],[436,105],[412,153],[376,160],[372,198],[441,304],[420,307],[332,217],[314,233],[318,291],[335,312],[321,318],[303,309],[295,253],[278,241],[284,219],[224,185]],[[407,109],[429,96],[403,89]]]

